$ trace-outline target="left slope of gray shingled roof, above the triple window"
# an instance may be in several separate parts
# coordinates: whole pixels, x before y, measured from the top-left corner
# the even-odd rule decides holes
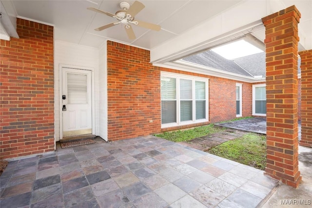
[[[205,51],[193,56],[184,57],[182,60],[214,69],[219,69],[225,72],[253,77],[246,70],[235,64],[233,60],[226,59],[213,51]]]

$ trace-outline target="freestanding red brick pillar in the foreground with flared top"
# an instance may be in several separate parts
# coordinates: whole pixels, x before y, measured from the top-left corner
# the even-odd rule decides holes
[[[266,28],[267,167],[294,188],[298,170],[298,23],[295,6],[262,19]]]

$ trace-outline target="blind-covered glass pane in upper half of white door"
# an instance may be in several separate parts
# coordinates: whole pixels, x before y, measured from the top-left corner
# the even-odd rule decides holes
[[[87,75],[67,74],[67,103],[87,104]]]

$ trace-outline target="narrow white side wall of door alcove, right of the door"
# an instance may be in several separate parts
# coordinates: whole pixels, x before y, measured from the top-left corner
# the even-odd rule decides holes
[[[99,95],[99,136],[107,141],[107,41],[99,48],[98,62],[98,83],[99,88],[96,94]]]

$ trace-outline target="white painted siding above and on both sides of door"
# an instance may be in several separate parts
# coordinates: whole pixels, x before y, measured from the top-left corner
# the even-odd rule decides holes
[[[98,65],[99,50],[97,48],[81,46],[69,42],[56,40],[54,42],[54,113],[55,138],[59,141],[60,135],[60,109],[59,109],[59,65],[72,65],[94,69],[95,80],[95,134],[98,135]]]

